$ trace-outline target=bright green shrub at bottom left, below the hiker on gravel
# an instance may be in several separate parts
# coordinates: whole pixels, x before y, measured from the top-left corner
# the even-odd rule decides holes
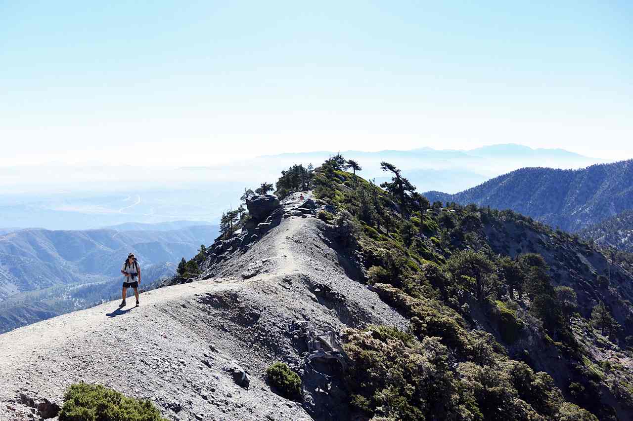
[[[123,396],[101,384],[77,383],[68,388],[60,421],[167,421],[149,400]]]

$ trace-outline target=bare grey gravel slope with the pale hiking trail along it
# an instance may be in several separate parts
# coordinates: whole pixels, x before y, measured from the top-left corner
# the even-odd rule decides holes
[[[352,279],[331,240],[341,233],[302,203],[292,195],[264,225],[216,243],[196,282],[144,293],[140,307],[110,302],[0,335],[0,420],[30,419],[43,400],[61,405],[78,381],[154,400],[174,420],[349,419],[332,376],[337,333],[408,320]],[[266,384],[274,361],[299,372],[302,403]],[[248,389],[236,384],[242,372]]]

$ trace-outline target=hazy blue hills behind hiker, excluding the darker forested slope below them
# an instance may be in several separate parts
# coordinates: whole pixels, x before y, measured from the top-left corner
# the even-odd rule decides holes
[[[134,252],[144,267],[177,263],[195,255],[201,243],[212,243],[217,235],[215,225],[170,231],[13,231],[0,236],[0,300],[58,284],[118,277],[128,252]]]

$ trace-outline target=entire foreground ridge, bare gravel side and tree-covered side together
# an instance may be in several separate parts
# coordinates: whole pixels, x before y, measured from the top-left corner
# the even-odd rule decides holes
[[[627,419],[633,274],[516,212],[431,205],[393,166],[385,190],[341,166],[294,192],[282,175],[281,200],[246,195],[248,214],[225,214],[139,308],[0,335],[0,402],[28,411],[85,379],[181,419]],[[274,361],[301,401],[273,396]],[[142,372],[110,377],[130,362]]]

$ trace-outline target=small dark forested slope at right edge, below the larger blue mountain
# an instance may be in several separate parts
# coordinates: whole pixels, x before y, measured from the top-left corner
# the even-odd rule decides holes
[[[633,210],[625,210],[599,224],[582,229],[579,235],[598,245],[633,253]]]

